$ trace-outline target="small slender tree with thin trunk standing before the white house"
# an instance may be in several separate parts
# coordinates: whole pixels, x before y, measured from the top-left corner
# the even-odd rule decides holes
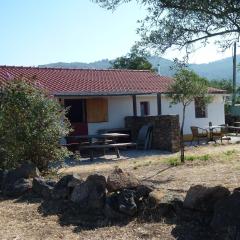
[[[171,99],[172,104],[182,105],[182,124],[180,128],[180,151],[181,162],[184,162],[184,141],[183,129],[185,123],[186,108],[196,98],[201,99],[202,105],[211,101],[208,93],[208,81],[201,78],[193,71],[180,67],[174,76],[174,82],[169,88],[168,97]]]

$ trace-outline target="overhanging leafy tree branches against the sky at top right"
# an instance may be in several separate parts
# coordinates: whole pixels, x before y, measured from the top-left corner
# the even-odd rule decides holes
[[[115,9],[132,0],[92,0],[102,7]],[[165,52],[171,47],[189,50],[209,39],[223,50],[238,40],[240,34],[239,0],[139,0],[148,14],[138,29],[140,45]],[[220,38],[218,38],[220,37]]]

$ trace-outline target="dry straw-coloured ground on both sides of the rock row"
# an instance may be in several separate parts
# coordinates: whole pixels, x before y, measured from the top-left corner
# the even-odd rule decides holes
[[[95,162],[60,169],[59,173],[78,172],[82,176],[107,175],[119,166],[154,184],[156,188],[186,193],[193,184],[240,186],[239,144],[188,147],[184,165],[173,164],[177,154],[146,156],[137,159]],[[177,165],[177,166],[174,166]],[[79,222],[64,220],[64,216],[43,211],[38,198],[0,199],[0,239],[213,239],[193,226],[176,223],[140,222],[98,226],[89,229]],[[205,234],[205,235],[204,235]]]

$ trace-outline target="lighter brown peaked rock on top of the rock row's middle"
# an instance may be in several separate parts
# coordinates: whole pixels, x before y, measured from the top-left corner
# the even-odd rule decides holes
[[[122,189],[133,189],[140,185],[139,180],[128,172],[123,172],[120,168],[115,168],[107,178],[107,190],[115,192]]]

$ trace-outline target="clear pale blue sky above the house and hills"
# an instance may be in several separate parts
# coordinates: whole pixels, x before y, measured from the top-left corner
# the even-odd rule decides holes
[[[0,65],[92,62],[125,55],[138,39],[137,20],[144,14],[135,3],[112,13],[90,0],[2,0]],[[191,61],[230,55],[209,46]],[[163,57],[176,56],[178,52],[169,51]]]

